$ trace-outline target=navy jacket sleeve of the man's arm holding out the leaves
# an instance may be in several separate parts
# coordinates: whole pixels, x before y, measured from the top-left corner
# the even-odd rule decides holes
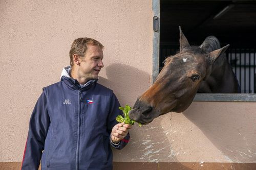
[[[122,111],[119,109],[120,104],[119,101],[116,98],[116,95],[113,93],[111,93],[111,101],[110,101],[110,112],[109,112],[109,116],[108,116],[108,122],[107,122],[107,126],[108,126],[108,132],[109,134],[111,134],[112,128],[118,124],[118,122],[116,121],[116,117],[118,115],[122,115]],[[125,145],[129,142],[130,139],[130,134],[128,133],[120,142],[119,144],[113,144],[110,141],[110,145],[118,150],[122,149],[123,147],[125,147]],[[111,136],[110,136],[110,140],[111,140]]]

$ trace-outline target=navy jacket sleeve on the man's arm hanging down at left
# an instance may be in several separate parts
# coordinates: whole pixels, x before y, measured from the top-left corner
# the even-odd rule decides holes
[[[47,99],[45,91],[43,91],[36,102],[30,118],[22,170],[38,169],[49,124],[50,118],[47,112]]]

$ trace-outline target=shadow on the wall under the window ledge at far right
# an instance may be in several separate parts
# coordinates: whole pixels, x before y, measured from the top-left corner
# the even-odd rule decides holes
[[[183,114],[219,149],[227,162],[250,163],[256,160],[253,110],[256,110],[253,103],[194,102]]]

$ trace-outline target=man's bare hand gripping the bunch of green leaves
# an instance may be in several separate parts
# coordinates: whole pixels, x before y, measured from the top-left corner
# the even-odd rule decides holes
[[[129,124],[124,124],[124,123],[120,123],[120,124],[116,124],[111,132],[111,140],[114,143],[119,142],[120,140],[122,140],[128,133],[128,129],[131,129],[132,125]]]

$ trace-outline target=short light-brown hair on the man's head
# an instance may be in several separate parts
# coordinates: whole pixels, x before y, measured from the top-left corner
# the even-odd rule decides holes
[[[84,57],[84,55],[86,54],[87,45],[96,45],[99,46],[102,50],[104,48],[104,46],[99,41],[92,38],[84,37],[75,39],[69,51],[71,66],[74,65],[73,55],[77,54],[79,57]]]

